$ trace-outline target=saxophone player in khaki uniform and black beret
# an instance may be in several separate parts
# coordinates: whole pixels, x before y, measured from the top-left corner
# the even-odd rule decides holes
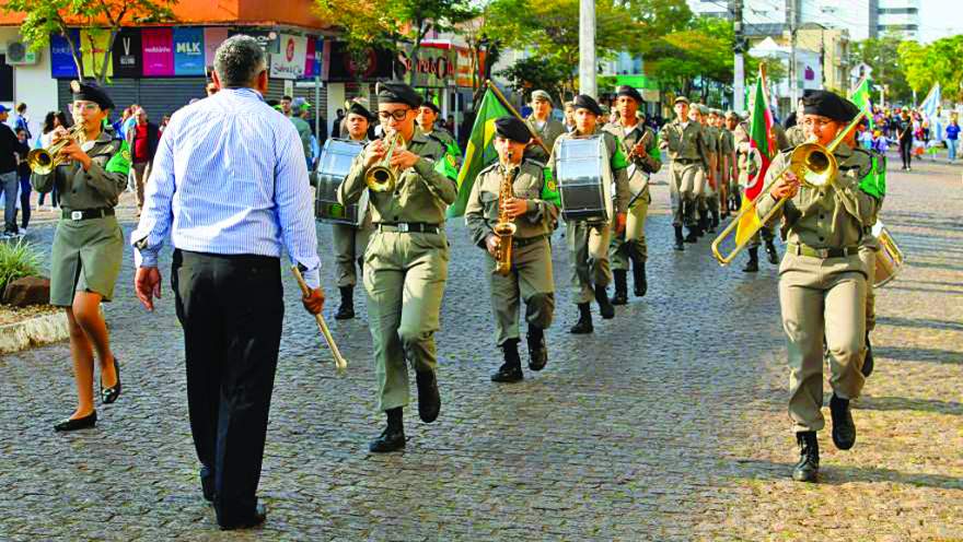
[[[548,362],[545,329],[555,313],[552,278],[550,224],[560,204],[552,174],[531,158],[523,160],[532,134],[524,121],[501,117],[495,121],[498,162],[483,169],[465,209],[472,240],[485,249],[485,270],[495,313],[496,342],[504,364],[491,375],[496,382],[523,378],[519,356],[519,308],[525,303],[529,323],[529,368],[542,370]],[[499,235],[504,222],[511,235]]]

